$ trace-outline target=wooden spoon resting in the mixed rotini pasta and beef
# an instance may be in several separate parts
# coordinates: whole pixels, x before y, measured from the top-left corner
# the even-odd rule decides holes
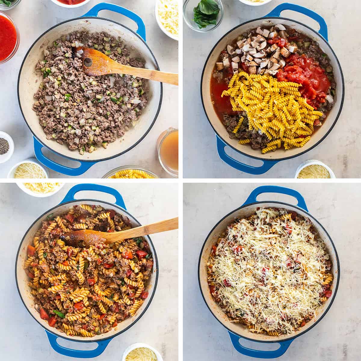
[[[171,231],[178,229],[178,217],[166,219],[152,223],[147,226],[140,226],[120,232],[100,232],[90,229],[68,232],[60,236],[60,238],[69,246],[78,247],[79,242],[83,241],[88,247],[95,241],[102,240],[103,243],[109,244],[123,239],[145,236],[159,232]]]

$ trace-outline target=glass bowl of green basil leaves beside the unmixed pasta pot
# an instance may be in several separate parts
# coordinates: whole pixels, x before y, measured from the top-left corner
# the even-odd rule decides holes
[[[186,0],[183,4],[183,18],[195,31],[216,29],[223,18],[222,3],[220,0]]]

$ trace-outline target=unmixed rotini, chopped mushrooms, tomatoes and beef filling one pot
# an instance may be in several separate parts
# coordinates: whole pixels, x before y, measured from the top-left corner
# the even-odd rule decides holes
[[[230,138],[266,152],[281,142],[285,149],[303,146],[334,105],[336,83],[318,43],[277,24],[228,44],[214,66],[210,89]]]

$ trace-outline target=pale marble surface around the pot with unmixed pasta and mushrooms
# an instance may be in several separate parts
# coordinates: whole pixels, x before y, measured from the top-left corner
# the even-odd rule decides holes
[[[329,28],[329,42],[341,63],[345,78],[345,101],[341,116],[321,144],[306,154],[282,161],[263,175],[249,175],[231,168],[217,154],[216,136],[208,123],[200,99],[200,78],[205,60],[214,44],[227,31],[250,19],[265,16],[280,3],[295,3],[320,14]],[[359,51],[361,40],[355,38],[353,29],[359,26],[360,1],[339,0],[274,0],[263,6],[248,6],[238,0],[222,1],[224,17],[216,30],[205,34],[191,30],[183,22],[183,176],[185,178],[293,178],[297,167],[308,159],[318,159],[330,166],[338,178],[359,178],[361,164],[358,161],[360,135],[361,73]],[[295,12],[283,12],[283,16],[303,21],[313,26],[315,22]],[[315,28],[315,29],[318,29]],[[347,49],[347,50],[346,50]],[[355,61],[348,61],[349,58]],[[259,166],[260,161],[247,158],[227,148],[236,160]]]

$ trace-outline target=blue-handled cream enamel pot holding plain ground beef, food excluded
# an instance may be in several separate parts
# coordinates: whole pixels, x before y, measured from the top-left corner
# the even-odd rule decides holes
[[[132,19],[138,25],[138,30],[134,32],[118,22],[98,17],[97,15],[101,10],[111,10]],[[35,40],[27,52],[19,71],[19,105],[25,122],[34,135],[36,158],[48,168],[66,175],[83,174],[96,162],[120,156],[135,147],[151,130],[162,103],[162,83],[149,81],[148,103],[142,111],[138,124],[129,131],[126,131],[122,139],[117,139],[115,142],[109,143],[106,149],[100,147],[96,149],[96,151],[85,153],[82,156],[77,150],[69,150],[65,144],[61,145],[55,140],[46,139],[43,128],[39,124],[39,117],[36,116],[32,110],[32,104],[35,101],[33,95],[38,90],[40,82],[42,82],[42,76],[35,71],[35,65],[44,57],[43,49],[47,44],[53,43],[53,41],[61,35],[78,30],[88,30],[90,32],[105,31],[112,36],[120,36],[131,48],[132,56],[144,58],[146,68],[159,70],[156,58],[145,42],[145,26],[143,20],[130,10],[114,4],[97,4],[83,17],[59,23]],[[50,149],[62,157],[79,161],[81,165],[78,168],[70,168],[57,164],[43,155],[43,147]]]

